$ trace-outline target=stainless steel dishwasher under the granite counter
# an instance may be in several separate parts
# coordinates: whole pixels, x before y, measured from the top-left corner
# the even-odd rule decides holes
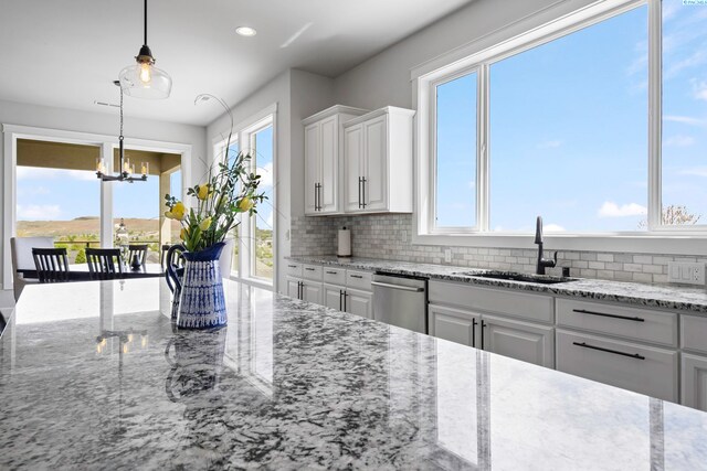
[[[387,324],[428,333],[426,278],[376,272],[373,318]]]

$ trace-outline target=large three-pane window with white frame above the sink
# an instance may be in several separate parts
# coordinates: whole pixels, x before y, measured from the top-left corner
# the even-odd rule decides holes
[[[418,233],[707,224],[706,45],[707,7],[610,0],[420,74]]]

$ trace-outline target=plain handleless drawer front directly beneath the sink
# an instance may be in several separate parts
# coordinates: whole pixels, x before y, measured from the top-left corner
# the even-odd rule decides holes
[[[430,302],[458,306],[477,312],[508,314],[537,322],[555,322],[553,298],[549,296],[442,281],[430,281],[429,286]]]

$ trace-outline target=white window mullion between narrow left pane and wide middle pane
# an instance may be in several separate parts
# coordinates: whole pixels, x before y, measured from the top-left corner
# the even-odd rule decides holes
[[[488,63],[482,64],[478,68],[478,85],[476,100],[476,226],[479,232],[488,232]]]

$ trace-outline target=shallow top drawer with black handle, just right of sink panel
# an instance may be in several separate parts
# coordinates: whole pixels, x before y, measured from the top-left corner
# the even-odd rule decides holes
[[[640,342],[677,346],[677,314],[673,312],[558,299],[557,323]]]

